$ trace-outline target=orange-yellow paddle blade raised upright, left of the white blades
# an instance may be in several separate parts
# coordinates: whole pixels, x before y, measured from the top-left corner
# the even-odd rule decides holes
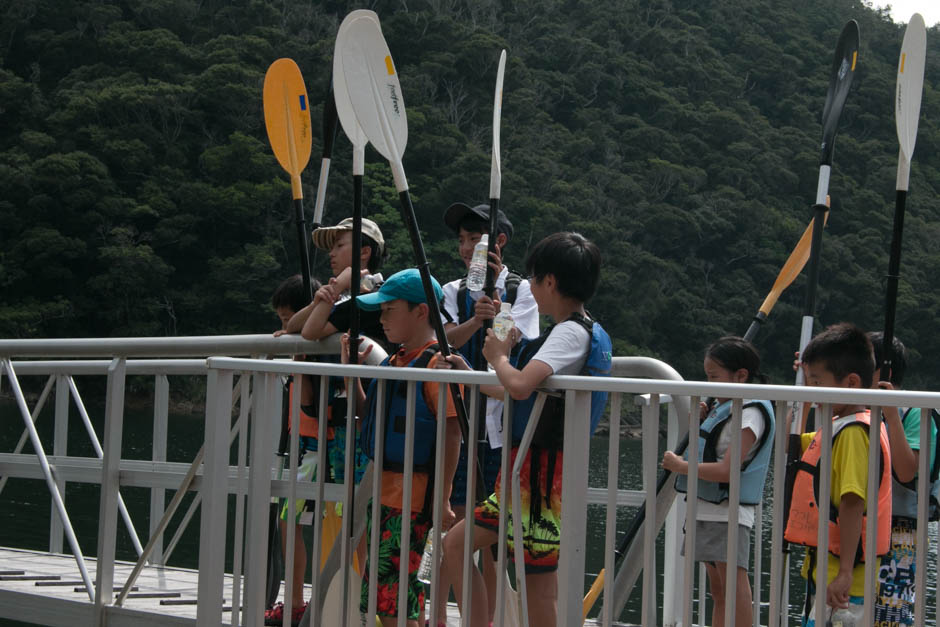
[[[293,59],[278,59],[264,75],[264,126],[278,163],[296,185],[310,160],[310,106],[300,68]],[[294,198],[301,198],[294,190]]]

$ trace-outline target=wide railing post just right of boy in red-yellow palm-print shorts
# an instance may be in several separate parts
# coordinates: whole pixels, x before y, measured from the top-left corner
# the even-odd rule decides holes
[[[584,622],[584,556],[587,534],[587,478],[591,448],[591,393],[565,394],[565,440],[561,479],[564,541],[558,557],[558,624]]]

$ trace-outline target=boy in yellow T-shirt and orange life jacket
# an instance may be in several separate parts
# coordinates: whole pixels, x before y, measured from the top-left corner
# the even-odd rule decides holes
[[[872,385],[875,359],[865,332],[848,323],[836,324],[814,337],[803,351],[801,367],[807,385],[815,387],[866,389]],[[825,559],[827,615],[839,612],[861,625],[865,595],[865,560],[878,559],[890,548],[891,540],[891,450],[884,428],[878,437],[881,447],[881,474],[877,503],[866,503],[868,494],[868,447],[871,414],[858,404],[832,405],[831,504],[820,520],[816,503],[822,449],[822,432],[801,436],[803,455],[793,485],[784,537],[807,548],[802,574],[807,583],[803,624],[815,627],[816,568]],[[876,555],[865,554],[864,530],[868,507],[878,508]],[[820,524],[829,525],[829,546],[817,544]],[[825,558],[823,558],[825,555]]]

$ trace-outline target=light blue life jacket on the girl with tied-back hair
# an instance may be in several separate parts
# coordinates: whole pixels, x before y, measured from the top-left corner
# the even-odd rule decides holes
[[[741,465],[741,505],[757,505],[764,493],[764,480],[770,466],[770,453],[774,444],[774,408],[769,401],[744,401],[744,407],[757,407],[764,416],[764,432],[757,442],[754,457]],[[713,409],[699,425],[698,461],[699,463],[716,462],[718,438],[722,430],[731,424],[731,401],[725,401]],[[688,459],[688,453],[685,455]],[[676,491],[688,491],[688,476],[676,477]],[[728,500],[728,484],[715,481],[698,480],[698,498],[710,503],[722,503]]]

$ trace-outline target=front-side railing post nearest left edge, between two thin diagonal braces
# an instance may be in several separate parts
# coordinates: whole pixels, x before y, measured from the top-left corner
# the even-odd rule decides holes
[[[114,598],[126,369],[127,363],[123,357],[115,357],[108,366],[104,445],[101,449],[101,501],[98,507],[98,566],[95,573],[95,614],[101,626],[105,625],[104,607],[110,605]]]

